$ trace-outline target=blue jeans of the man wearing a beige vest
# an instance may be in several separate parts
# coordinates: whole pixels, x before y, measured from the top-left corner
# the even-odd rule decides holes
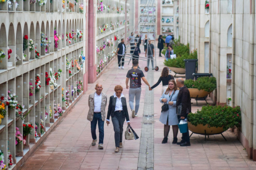
[[[104,140],[104,121],[101,119],[101,113],[94,113],[93,120],[91,121],[91,132],[93,140],[97,139],[96,137],[96,126],[98,121],[98,128],[99,128],[99,144],[103,144]]]

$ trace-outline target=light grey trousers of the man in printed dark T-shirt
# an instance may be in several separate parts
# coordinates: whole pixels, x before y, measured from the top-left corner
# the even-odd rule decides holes
[[[129,104],[130,110],[134,110],[134,97],[135,97],[135,113],[137,114],[140,107],[140,94],[142,94],[142,88],[129,89]]]

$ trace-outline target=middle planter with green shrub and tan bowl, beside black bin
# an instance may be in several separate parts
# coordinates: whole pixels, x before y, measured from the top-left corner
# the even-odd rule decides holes
[[[189,89],[191,98],[202,98],[216,89],[215,77],[200,77],[197,80],[186,79],[184,84]]]

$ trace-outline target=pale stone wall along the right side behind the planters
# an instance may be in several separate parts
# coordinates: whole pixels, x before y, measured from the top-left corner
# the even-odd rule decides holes
[[[216,77],[216,104],[241,106],[237,136],[256,161],[255,1],[180,0],[179,9],[181,42],[197,49],[198,73]]]

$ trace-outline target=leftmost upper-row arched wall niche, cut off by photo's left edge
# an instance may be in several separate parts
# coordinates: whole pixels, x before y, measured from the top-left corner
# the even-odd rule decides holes
[[[4,23],[1,24],[1,28],[0,28],[0,49],[4,51],[4,54],[6,54],[6,57],[1,59],[2,62],[0,62],[0,69],[6,70],[8,55],[7,55],[6,26],[4,25]]]

